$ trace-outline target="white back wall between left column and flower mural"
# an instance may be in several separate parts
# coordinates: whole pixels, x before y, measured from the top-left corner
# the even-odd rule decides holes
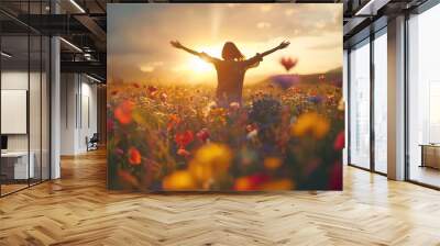
[[[62,74],[61,94],[61,154],[85,153],[86,137],[97,132],[97,86],[84,75]]]

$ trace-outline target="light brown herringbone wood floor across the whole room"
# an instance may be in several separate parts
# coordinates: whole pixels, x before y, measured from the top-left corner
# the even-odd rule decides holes
[[[0,245],[440,245],[440,192],[346,167],[343,192],[106,190],[106,156],[0,199]]]

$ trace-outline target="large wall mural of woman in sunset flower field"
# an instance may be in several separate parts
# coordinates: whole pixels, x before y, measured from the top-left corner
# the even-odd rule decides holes
[[[108,187],[341,190],[342,4],[108,4]]]

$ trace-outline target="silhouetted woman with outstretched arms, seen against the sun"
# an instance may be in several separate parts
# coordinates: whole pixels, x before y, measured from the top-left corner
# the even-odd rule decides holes
[[[244,58],[243,54],[232,42],[224,43],[221,52],[223,59],[211,57],[206,53],[199,53],[187,48],[178,41],[172,41],[170,44],[176,48],[186,51],[215,65],[218,80],[216,93],[217,100],[220,105],[228,107],[231,102],[241,103],[243,93],[243,79],[246,70],[249,68],[258,66],[264,56],[287,47],[290,42],[284,41],[278,46],[261,54],[257,53],[255,56],[249,59]]]

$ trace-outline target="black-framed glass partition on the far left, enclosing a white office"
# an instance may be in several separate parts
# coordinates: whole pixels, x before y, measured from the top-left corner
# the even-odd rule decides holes
[[[0,8],[41,14],[47,3]],[[0,13],[1,197],[50,179],[50,48],[47,36]]]

